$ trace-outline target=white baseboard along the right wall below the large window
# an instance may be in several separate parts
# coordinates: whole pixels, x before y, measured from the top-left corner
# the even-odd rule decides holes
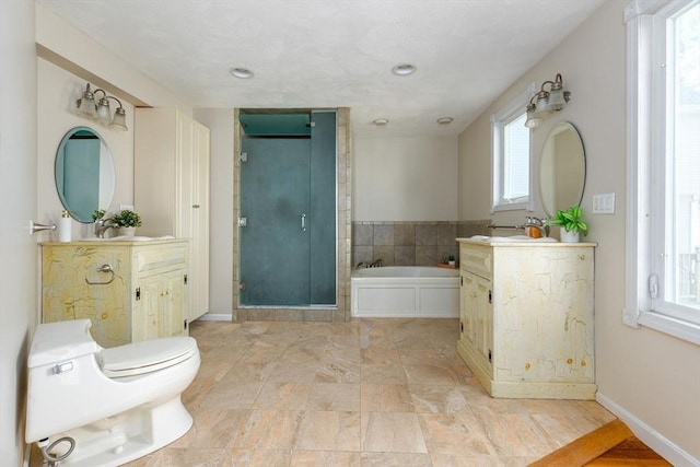
[[[656,430],[644,423],[637,416],[629,412],[609,397],[600,394],[596,395],[596,400],[603,407],[615,413],[632,430],[634,435],[649,447],[654,450],[666,460],[676,467],[698,467],[700,460],[685,452],[680,446],[658,433]]]

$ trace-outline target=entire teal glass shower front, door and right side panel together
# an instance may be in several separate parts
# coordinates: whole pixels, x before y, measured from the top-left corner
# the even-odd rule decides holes
[[[310,137],[242,140],[242,306],[336,303],[336,113],[312,115]]]

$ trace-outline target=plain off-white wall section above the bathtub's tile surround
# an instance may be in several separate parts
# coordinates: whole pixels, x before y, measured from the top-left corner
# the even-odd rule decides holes
[[[457,138],[353,141],[353,221],[456,221]]]

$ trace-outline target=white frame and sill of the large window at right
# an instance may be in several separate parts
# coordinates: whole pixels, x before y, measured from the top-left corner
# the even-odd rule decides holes
[[[654,311],[650,295],[649,278],[655,271],[652,257],[657,242],[658,223],[652,219],[655,199],[651,187],[652,174],[666,157],[664,138],[652,137],[654,131],[665,132],[665,117],[660,125],[660,114],[665,116],[665,75],[654,67],[660,52],[665,56],[657,37],[660,22],[665,21],[692,0],[637,0],[625,9],[627,23],[627,226],[626,226],[626,300],[622,323],[639,328],[650,327],[670,336],[700,345],[700,325]],[[662,92],[658,86],[663,85]],[[663,112],[661,112],[663,110]],[[665,195],[664,195],[665,197]]]

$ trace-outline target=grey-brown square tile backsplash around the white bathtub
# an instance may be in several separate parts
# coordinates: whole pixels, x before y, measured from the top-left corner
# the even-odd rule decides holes
[[[381,258],[384,266],[434,266],[457,256],[456,237],[488,235],[490,222],[353,222],[352,265]]]

